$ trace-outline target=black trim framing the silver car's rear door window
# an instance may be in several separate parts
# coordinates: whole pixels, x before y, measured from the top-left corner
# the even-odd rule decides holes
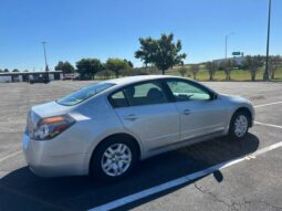
[[[142,85],[142,84],[146,84],[146,83],[158,83],[159,84],[159,87],[161,88],[161,91],[164,92],[165,94],[165,97],[167,98],[167,102],[166,103],[159,103],[159,104],[146,104],[146,105],[130,105],[125,93],[124,93],[124,89],[129,87],[129,86],[137,86],[137,85]],[[163,82],[161,78],[154,78],[154,80],[147,80],[147,81],[142,81],[142,82],[136,82],[136,83],[132,83],[132,84],[127,84],[127,85],[124,85],[123,87],[118,88],[117,91],[114,91],[112,93],[109,93],[107,95],[107,101],[108,103],[112,105],[113,108],[123,108],[123,107],[136,107],[136,106],[149,106],[149,105],[161,105],[161,104],[168,104],[168,103],[173,103],[173,99],[171,99],[171,96],[169,96],[168,92],[169,91],[169,87],[166,87],[167,84],[165,84]],[[122,106],[122,107],[118,107],[118,106],[115,106],[115,103],[112,98],[112,96],[118,92],[123,92],[124,96],[125,96],[125,99],[126,99],[126,106]],[[171,93],[171,92],[170,92]]]

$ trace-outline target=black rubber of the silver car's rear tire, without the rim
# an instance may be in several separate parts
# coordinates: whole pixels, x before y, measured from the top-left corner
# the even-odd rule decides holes
[[[132,160],[129,163],[129,167],[125,172],[123,172],[119,176],[109,176],[107,175],[102,167],[102,159],[104,156],[104,152],[114,145],[123,144],[128,147],[132,155]],[[117,181],[121,180],[133,171],[135,165],[138,161],[138,149],[135,144],[135,141],[130,138],[119,138],[119,137],[113,137],[103,140],[98,147],[95,149],[94,154],[92,155],[91,165],[90,165],[90,175],[94,177],[95,179],[103,180],[103,181]]]

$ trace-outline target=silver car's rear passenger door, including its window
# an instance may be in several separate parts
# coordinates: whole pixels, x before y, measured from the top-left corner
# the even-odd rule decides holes
[[[139,137],[147,150],[179,140],[178,110],[158,81],[127,86],[109,98],[124,127]]]

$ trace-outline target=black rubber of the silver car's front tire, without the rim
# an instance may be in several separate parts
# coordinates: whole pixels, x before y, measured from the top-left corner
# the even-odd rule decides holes
[[[246,128],[246,131],[241,133],[240,136],[239,136],[239,133],[236,131],[236,127],[237,127],[236,122],[241,116],[247,119],[247,128]],[[249,130],[250,126],[251,126],[251,117],[247,112],[239,110],[239,112],[234,113],[232,118],[231,118],[230,126],[229,126],[229,138],[231,140],[243,140],[244,137],[248,134],[248,130]]]

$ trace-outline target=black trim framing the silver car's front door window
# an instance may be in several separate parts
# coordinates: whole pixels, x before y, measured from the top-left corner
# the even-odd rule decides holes
[[[173,78],[173,77],[171,78],[164,78],[163,81],[164,81],[165,86],[167,86],[167,88],[168,88],[167,92],[169,92],[169,96],[173,98],[173,101],[175,103],[182,103],[182,102],[189,102],[189,101],[199,101],[199,99],[188,99],[188,101],[182,101],[182,102],[177,101],[177,98],[175,97],[173,91],[170,89],[169,85],[167,84],[170,81],[184,82],[184,83],[190,84],[190,85],[203,91],[205,93],[207,93],[210,96],[210,98],[209,99],[201,99],[202,102],[213,101],[212,96],[213,96],[215,93],[211,92],[210,89],[208,89],[207,87],[194,82],[194,81],[189,81],[189,80],[185,80],[185,78]]]

